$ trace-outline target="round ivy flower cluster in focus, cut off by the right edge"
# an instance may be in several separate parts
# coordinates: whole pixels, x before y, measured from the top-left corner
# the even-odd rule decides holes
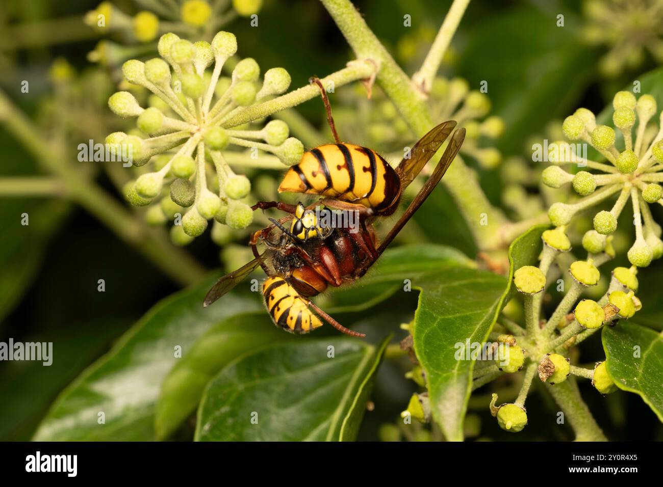
[[[566,142],[553,144],[556,150],[552,150],[551,155],[556,155],[551,156],[550,160],[554,165],[544,170],[544,184],[553,188],[571,184],[582,197],[574,203],[554,203],[548,210],[548,217],[553,225],[562,227],[568,225],[577,213],[617,194],[617,201],[609,211],[599,211],[593,217],[594,229],[583,236],[583,247],[587,252],[602,252],[608,237],[617,230],[619,215],[630,202],[635,241],[628,252],[629,262],[646,267],[652,259],[663,255],[661,227],[652,218],[649,207],[650,204],[663,205],[663,188],[659,184],[663,181],[661,117],[656,123],[650,123],[657,113],[656,100],[651,95],[641,95],[636,99],[633,93],[620,91],[613,99],[613,107],[613,123],[623,136],[621,149],[616,145],[615,130],[597,124],[591,111],[581,108],[564,120],[562,130],[566,138],[590,144],[609,164],[581,158]],[[570,174],[560,167],[564,164],[579,164],[595,173],[581,170]]]

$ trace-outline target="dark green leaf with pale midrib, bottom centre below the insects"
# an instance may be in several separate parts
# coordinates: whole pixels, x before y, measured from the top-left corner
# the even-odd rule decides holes
[[[390,339],[378,347],[351,337],[300,339],[241,356],[210,382],[196,440],[352,441]]]

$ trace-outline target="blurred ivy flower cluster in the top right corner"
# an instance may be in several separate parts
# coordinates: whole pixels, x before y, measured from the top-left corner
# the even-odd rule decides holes
[[[592,45],[607,46],[599,70],[609,77],[637,68],[649,52],[663,62],[663,5],[658,0],[585,0],[582,34]]]

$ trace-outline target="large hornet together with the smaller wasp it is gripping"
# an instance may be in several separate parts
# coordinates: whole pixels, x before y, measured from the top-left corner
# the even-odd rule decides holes
[[[308,333],[321,327],[324,320],[342,333],[365,337],[343,327],[310,298],[328,286],[355,282],[367,272],[440,182],[463,143],[465,129],[453,133],[430,178],[378,243],[373,229],[375,219],[396,211],[404,189],[442,146],[456,122],[446,121],[434,127],[394,169],[375,150],[339,140],[326,89],[318,78],[311,78],[310,82],[320,88],[335,143],[305,152],[300,162],[288,169],[278,191],[318,195],[320,199],[308,207],[301,202],[291,205],[280,201],[258,201],[253,205],[254,210],[275,208],[286,215],[270,218],[271,225],[253,233],[249,244],[255,258],[221,277],[203,305],[221,298],[261,266],[267,274],[263,298],[278,327],[291,333]],[[326,212],[324,215],[355,215],[355,225],[325,225],[321,211]],[[266,247],[262,253],[258,244]]]

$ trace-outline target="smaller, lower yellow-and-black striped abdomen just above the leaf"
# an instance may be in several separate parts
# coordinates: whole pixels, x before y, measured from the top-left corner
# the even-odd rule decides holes
[[[308,309],[306,301],[286,280],[278,276],[263,282],[265,305],[277,326],[292,333],[308,333],[322,321]]]

